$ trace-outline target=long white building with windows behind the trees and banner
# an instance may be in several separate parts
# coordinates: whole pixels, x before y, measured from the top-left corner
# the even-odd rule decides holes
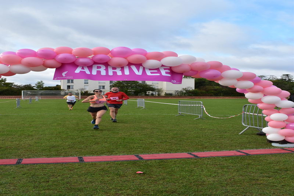
[[[89,79],[68,79],[60,80],[61,88],[64,90],[79,90],[79,91],[90,91],[94,89],[101,89],[103,93],[110,91],[110,85],[115,81],[97,81]],[[195,78],[183,78],[182,84],[172,84],[171,82],[161,82],[161,81],[139,81],[145,84],[151,84],[154,88],[162,88],[164,90],[163,95],[173,94],[175,91],[179,91],[182,88],[192,87],[195,88]]]

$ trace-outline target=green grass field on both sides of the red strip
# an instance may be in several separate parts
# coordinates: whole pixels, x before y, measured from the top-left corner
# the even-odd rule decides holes
[[[179,99],[148,99],[177,103]],[[215,117],[240,114],[246,99],[197,99]],[[136,101],[93,130],[89,104],[0,99],[0,159],[155,154],[276,148],[241,116],[175,116],[177,106]],[[0,166],[4,196],[291,196],[294,154]],[[144,172],[137,174],[137,171]]]

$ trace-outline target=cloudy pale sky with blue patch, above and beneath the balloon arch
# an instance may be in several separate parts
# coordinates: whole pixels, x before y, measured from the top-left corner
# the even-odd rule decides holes
[[[13,0],[0,7],[0,53],[123,46],[294,75],[294,0]],[[54,71],[5,78],[55,86]]]

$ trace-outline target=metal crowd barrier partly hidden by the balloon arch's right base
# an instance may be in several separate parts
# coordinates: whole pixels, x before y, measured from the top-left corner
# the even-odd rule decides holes
[[[242,124],[246,126],[246,128],[241,131],[242,134],[248,128],[257,128],[259,130],[260,135],[265,135],[265,133],[261,130],[264,127],[268,126],[268,122],[265,121],[265,117],[262,113],[262,110],[257,107],[257,105],[246,104],[243,106],[243,114],[242,114]]]

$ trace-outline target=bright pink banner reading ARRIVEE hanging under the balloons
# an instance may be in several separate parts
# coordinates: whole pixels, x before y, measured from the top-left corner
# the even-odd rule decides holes
[[[148,69],[142,64],[128,64],[124,67],[112,67],[107,63],[97,63],[88,67],[65,63],[55,69],[53,80],[90,79],[105,81],[164,81],[181,84],[183,73],[175,73],[170,67],[162,66]]]

